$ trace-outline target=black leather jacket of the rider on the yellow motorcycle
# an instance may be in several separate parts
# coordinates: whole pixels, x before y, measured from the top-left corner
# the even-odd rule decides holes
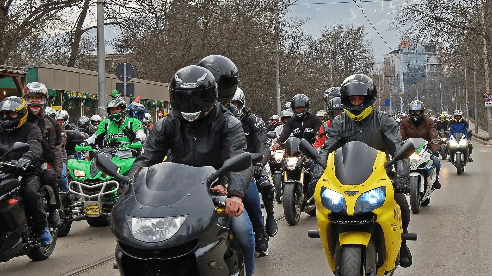
[[[326,163],[328,154],[352,141],[363,142],[379,151],[393,155],[402,145],[401,133],[398,124],[390,115],[373,110],[367,118],[356,122],[342,113],[335,117],[328,129],[325,147],[321,150],[320,158]],[[396,162],[396,176],[409,175],[409,159]],[[314,170],[316,179],[323,174],[323,168],[319,165]]]

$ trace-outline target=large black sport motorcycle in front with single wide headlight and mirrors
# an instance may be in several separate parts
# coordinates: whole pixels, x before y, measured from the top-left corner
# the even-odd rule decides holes
[[[139,169],[131,180],[98,154],[99,170],[129,183],[111,216],[120,275],[246,275],[223,198],[210,187],[225,173],[250,167],[252,156],[239,154],[217,171],[165,162]]]

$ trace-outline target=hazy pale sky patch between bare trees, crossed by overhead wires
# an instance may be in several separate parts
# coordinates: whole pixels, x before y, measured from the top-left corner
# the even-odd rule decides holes
[[[291,0],[294,2],[295,0]],[[368,39],[372,39],[372,48],[377,60],[382,60],[383,55],[388,54],[395,49],[400,42],[399,31],[388,31],[390,28],[391,18],[394,16],[396,8],[400,6],[402,0],[385,0],[378,2],[367,2],[374,0],[365,0],[366,2],[358,2],[367,18],[374,25],[377,31],[381,34],[384,41],[388,43],[388,47],[383,39],[379,37],[377,32],[372,28],[371,24],[364,17],[364,14],[352,2],[352,0],[299,0],[291,5],[291,17],[310,17],[311,20],[304,26],[304,30],[311,35],[318,36],[321,29],[327,25],[334,23],[364,25],[366,31],[369,32]],[[322,4],[328,2],[345,2],[337,4]],[[348,2],[348,3],[347,3]],[[315,4],[316,3],[316,4]]]

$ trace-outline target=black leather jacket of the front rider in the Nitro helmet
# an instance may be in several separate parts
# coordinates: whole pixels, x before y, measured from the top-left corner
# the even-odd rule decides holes
[[[154,124],[145,151],[137,157],[128,176],[139,167],[161,163],[169,150],[173,162],[189,166],[212,166],[219,169],[224,160],[246,150],[241,123],[224,106],[217,104],[203,120],[185,122],[169,113]],[[228,197],[243,198],[253,178],[253,166],[230,173]]]

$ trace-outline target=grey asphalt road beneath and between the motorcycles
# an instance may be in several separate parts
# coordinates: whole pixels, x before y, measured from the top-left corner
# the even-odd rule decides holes
[[[398,268],[394,275],[492,275],[490,242],[492,198],[492,147],[474,143],[474,161],[458,176],[451,163],[442,162],[442,189],[432,193],[432,201],[420,214],[412,215],[410,231],[419,239],[408,242],[413,266]],[[282,205],[276,206],[277,216]],[[257,276],[332,275],[321,243],[307,237],[316,229],[316,219],[304,215],[296,226],[279,221],[279,233],[270,240],[268,257],[256,259]],[[0,263],[0,275],[53,276],[111,256],[115,240],[108,227],[89,227],[85,221],[74,222],[67,237],[58,239],[53,255],[42,262],[18,257]],[[109,260],[77,275],[116,276]]]

